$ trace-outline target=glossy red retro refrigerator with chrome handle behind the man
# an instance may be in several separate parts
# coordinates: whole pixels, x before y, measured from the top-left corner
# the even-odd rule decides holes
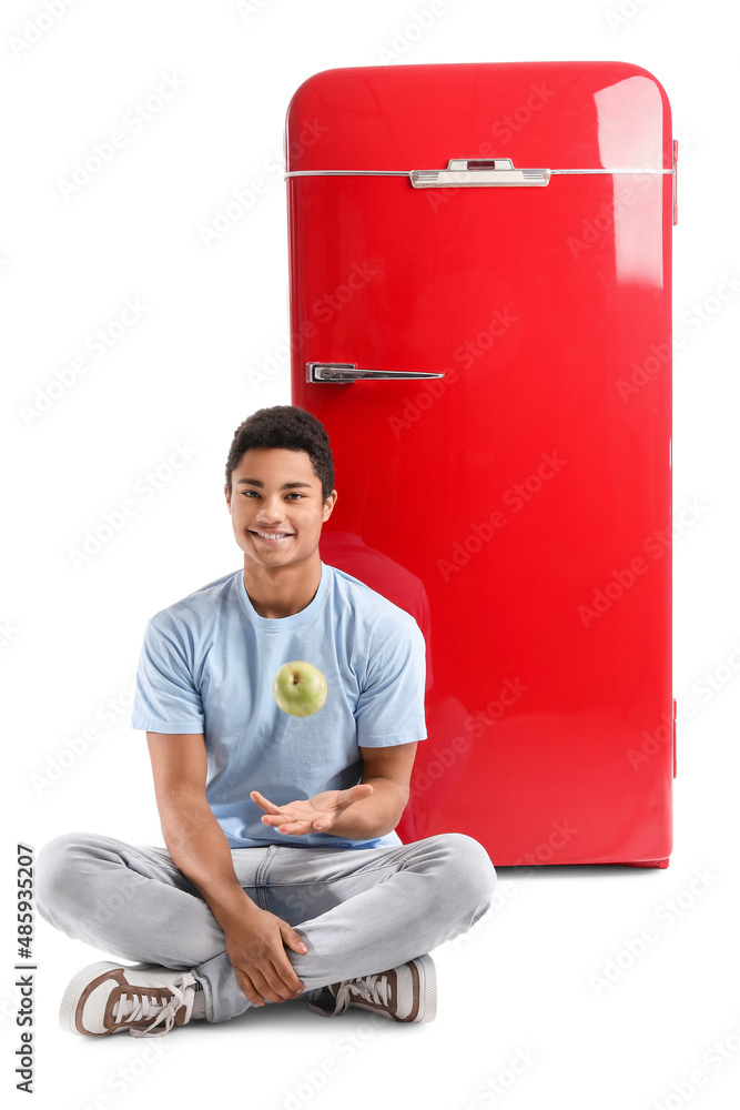
[[[407,609],[404,841],[671,851],[670,108],[620,62],[334,69],[287,111],[292,400],[321,555]]]

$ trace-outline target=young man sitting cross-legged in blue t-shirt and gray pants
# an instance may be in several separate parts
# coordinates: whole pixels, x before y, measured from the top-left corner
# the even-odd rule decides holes
[[[412,616],[322,563],[336,502],[310,413],[263,408],[234,435],[226,505],[244,565],[149,622],[132,727],[146,731],[166,850],[70,834],[38,860],[41,915],[134,967],[71,980],[64,1029],[158,1036],[193,1019],[306,997],[430,1021],[429,949],[486,911],[495,870],[460,834],[394,829],[424,725],[424,638]],[[276,705],[306,660],[328,694]]]

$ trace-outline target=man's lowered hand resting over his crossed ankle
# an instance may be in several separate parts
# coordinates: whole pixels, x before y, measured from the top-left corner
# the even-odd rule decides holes
[[[224,928],[226,955],[250,1002],[284,1002],[303,991],[285,946],[302,956],[308,951],[287,921],[254,907],[254,912]]]

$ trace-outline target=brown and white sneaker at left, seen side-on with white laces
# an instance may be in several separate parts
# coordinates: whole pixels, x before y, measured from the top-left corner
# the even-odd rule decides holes
[[[173,1026],[187,1025],[197,987],[189,971],[155,963],[91,963],[64,991],[59,1022],[68,1032],[85,1037],[124,1029],[132,1037],[161,1037]]]

